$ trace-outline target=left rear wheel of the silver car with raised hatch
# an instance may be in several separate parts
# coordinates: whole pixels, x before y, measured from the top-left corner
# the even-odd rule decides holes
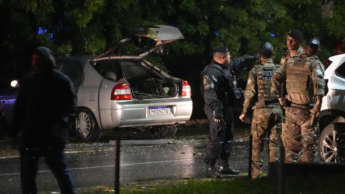
[[[95,142],[101,136],[95,116],[85,108],[79,109],[73,128],[80,142]]]

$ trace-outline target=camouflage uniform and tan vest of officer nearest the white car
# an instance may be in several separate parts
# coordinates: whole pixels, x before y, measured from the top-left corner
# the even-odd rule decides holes
[[[282,136],[286,139],[286,162],[311,162],[317,152],[318,121],[311,124],[310,106],[316,103],[316,95],[324,95],[324,66],[316,56],[302,52],[283,64],[272,76],[271,92],[282,94],[280,83],[286,80],[286,125]],[[302,156],[302,157],[301,157]]]

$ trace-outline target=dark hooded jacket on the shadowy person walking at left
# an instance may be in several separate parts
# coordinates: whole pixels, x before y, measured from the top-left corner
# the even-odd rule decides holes
[[[32,72],[20,82],[14,106],[11,136],[22,131],[21,139],[47,143],[52,140],[68,141],[68,126],[76,112],[76,95],[70,78],[55,69],[55,58],[46,47],[38,47],[40,73]],[[63,130],[52,135],[56,125]]]

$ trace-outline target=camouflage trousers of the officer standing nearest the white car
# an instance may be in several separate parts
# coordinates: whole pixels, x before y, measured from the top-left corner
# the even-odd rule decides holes
[[[286,108],[286,126],[282,139],[285,147],[285,162],[312,162],[317,153],[319,124],[311,125],[308,109]]]

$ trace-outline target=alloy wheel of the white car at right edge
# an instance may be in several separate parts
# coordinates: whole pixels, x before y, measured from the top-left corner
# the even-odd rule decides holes
[[[319,138],[321,162],[345,162],[345,123],[325,127]]]

